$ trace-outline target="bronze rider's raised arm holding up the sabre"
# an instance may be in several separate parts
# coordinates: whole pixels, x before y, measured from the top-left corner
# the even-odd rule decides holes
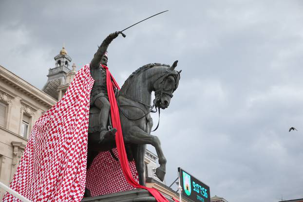
[[[103,42],[99,46],[97,52],[95,53],[94,58],[91,61],[92,69],[99,67],[102,56],[105,54],[108,46],[114,40],[114,38],[118,37],[119,34],[120,34],[120,32],[114,32],[103,40]]]

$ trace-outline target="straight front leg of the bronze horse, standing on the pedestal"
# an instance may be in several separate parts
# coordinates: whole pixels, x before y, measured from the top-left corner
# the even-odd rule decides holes
[[[146,152],[146,145],[136,145],[135,148],[133,148],[133,153],[134,153],[133,158],[138,172],[139,184],[143,186],[146,186],[145,164],[144,164],[145,152]]]

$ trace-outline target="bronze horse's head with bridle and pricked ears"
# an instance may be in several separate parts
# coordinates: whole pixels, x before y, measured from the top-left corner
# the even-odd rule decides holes
[[[166,109],[170,105],[170,99],[172,93],[178,88],[180,73],[177,72],[175,67],[177,66],[178,60],[176,60],[171,67],[160,75],[153,85],[153,91],[155,92],[155,107]]]

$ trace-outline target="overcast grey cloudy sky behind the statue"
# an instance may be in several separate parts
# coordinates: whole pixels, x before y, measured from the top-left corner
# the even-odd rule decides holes
[[[41,89],[63,43],[78,70],[107,35],[167,9],[108,49],[120,86],[179,60],[153,133],[167,184],[180,166],[229,202],[303,198],[303,1],[1,0],[0,65]]]

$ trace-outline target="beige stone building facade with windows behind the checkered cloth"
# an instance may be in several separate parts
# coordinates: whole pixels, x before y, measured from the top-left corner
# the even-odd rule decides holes
[[[56,100],[0,66],[0,182],[8,185],[35,121]],[[0,189],[2,200],[4,191]]]

